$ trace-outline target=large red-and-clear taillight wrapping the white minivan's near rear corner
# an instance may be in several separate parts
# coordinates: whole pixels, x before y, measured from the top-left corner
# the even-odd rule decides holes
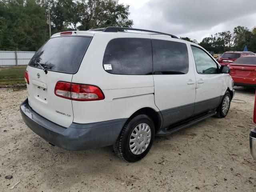
[[[54,93],[56,96],[76,101],[104,99],[104,94],[97,86],[62,81],[57,82]]]

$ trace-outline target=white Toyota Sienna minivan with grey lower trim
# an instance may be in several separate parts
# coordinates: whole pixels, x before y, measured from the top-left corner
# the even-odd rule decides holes
[[[60,32],[30,60],[20,112],[53,145],[113,145],[135,162],[154,136],[225,117],[234,96],[229,71],[198,44],[171,34],[121,27]]]

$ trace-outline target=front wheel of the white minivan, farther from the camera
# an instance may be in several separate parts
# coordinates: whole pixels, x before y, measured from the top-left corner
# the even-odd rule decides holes
[[[227,103],[228,102],[228,103]],[[228,114],[231,103],[231,96],[228,91],[225,92],[224,97],[222,98],[220,105],[217,108],[216,117],[224,118]],[[225,109],[224,109],[225,108]]]

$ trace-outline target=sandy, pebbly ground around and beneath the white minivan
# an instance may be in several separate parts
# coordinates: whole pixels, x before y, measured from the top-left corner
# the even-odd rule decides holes
[[[256,126],[253,89],[236,87],[235,99],[246,103],[232,102],[226,118],[156,138],[136,163],[120,160],[112,146],[80,152],[51,146],[22,121],[19,104],[26,96],[26,90],[0,89],[1,192],[256,191],[256,161],[249,152]]]

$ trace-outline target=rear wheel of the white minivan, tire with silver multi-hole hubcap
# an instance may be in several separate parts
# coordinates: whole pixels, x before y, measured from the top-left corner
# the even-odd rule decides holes
[[[139,114],[126,122],[113,145],[114,151],[122,160],[136,162],[148,154],[154,136],[155,127],[152,119],[146,114]]]

